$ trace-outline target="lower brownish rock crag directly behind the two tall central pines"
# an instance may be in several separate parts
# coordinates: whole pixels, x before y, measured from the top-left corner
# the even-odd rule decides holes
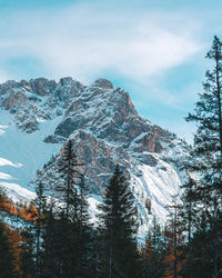
[[[121,165],[127,177],[130,176],[128,169],[131,167],[131,159],[128,151],[121,146],[110,148],[103,140],[84,130],[77,130],[72,133],[72,137],[74,152],[79,158],[79,162],[82,163],[79,170],[84,175],[91,193],[103,195],[117,163]],[[59,159],[60,156],[53,160],[53,169],[58,169]],[[44,168],[40,175],[40,180],[44,181],[48,177],[51,177],[50,183],[56,183],[56,176],[51,172],[51,167],[49,165],[49,167]]]

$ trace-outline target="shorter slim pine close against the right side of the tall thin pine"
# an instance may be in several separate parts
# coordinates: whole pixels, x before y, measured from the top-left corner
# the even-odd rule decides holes
[[[91,277],[89,261],[91,257],[91,226],[89,225],[88,212],[88,187],[82,177],[75,196],[74,208],[70,203],[70,218],[65,221],[65,271],[69,270],[74,277],[87,278]],[[68,260],[70,264],[67,264]],[[69,275],[69,272],[67,272]]]

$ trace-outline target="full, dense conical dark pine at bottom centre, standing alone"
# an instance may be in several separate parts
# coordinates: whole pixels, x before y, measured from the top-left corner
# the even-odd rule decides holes
[[[134,199],[123,172],[117,166],[99,206],[104,234],[105,277],[137,277],[137,229]]]

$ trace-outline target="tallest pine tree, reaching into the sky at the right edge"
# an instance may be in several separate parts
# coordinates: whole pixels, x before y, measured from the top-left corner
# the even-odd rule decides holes
[[[198,125],[192,152],[195,163],[188,167],[200,177],[193,188],[193,205],[200,220],[186,252],[192,258],[188,260],[188,269],[198,268],[201,264],[208,266],[211,272],[208,277],[219,277],[218,274],[222,272],[222,42],[218,37],[214,37],[206,58],[212,61],[213,68],[205,72],[206,81],[203,92],[199,95],[195,112],[186,118]],[[203,238],[204,256],[201,256],[195,248],[201,246]]]

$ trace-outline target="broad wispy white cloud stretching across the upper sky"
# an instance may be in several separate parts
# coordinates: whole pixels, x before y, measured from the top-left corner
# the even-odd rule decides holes
[[[193,26],[170,12],[110,11],[95,3],[23,11],[7,22],[0,57],[34,57],[54,78],[89,81],[112,70],[147,83],[201,49]]]

